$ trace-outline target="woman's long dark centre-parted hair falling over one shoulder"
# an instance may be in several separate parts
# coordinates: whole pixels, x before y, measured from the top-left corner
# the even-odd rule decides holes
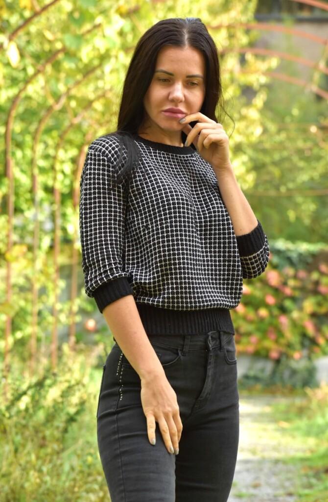
[[[157,54],[162,47],[168,45],[182,48],[189,46],[202,52],[206,78],[205,98],[200,111],[220,123],[223,112],[230,117],[224,109],[217,47],[204,23],[200,18],[170,18],[158,21],[142,35],[134,49],[124,80],[117,130],[104,135],[114,136],[119,140],[121,148],[116,166],[121,163],[125,149],[125,161],[117,176],[117,183],[125,178],[125,175],[130,176],[133,166],[140,160],[140,150],[133,141],[133,135],[137,135],[143,121],[143,97],[153,77]],[[215,114],[218,103],[219,118]],[[196,123],[197,121],[190,122],[191,127]],[[186,137],[182,131],[183,142]],[[190,146],[196,150],[193,144]]]

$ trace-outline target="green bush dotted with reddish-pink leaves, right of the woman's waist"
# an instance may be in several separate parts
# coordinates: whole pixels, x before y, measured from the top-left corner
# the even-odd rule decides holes
[[[328,354],[327,250],[289,243],[284,253],[281,241],[271,247],[267,269],[244,281],[233,311],[238,351],[295,361]],[[294,268],[296,257],[300,267]]]

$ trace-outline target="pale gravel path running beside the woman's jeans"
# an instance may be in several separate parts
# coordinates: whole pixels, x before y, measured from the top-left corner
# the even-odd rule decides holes
[[[235,477],[228,502],[297,502],[297,467],[286,456],[304,451],[281,436],[285,422],[274,421],[271,405],[291,402],[276,396],[244,397],[240,393],[240,437]]]

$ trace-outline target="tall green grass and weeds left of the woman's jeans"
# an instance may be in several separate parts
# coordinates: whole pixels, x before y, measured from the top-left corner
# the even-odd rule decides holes
[[[99,374],[87,361],[64,344],[56,372],[47,366],[30,379],[19,364],[0,406],[1,502],[105,499],[96,442]]]

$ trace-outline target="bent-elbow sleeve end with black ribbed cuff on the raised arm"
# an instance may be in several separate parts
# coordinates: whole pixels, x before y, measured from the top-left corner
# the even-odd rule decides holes
[[[251,232],[238,235],[236,238],[243,279],[254,279],[264,272],[270,252],[267,236],[259,220]]]

